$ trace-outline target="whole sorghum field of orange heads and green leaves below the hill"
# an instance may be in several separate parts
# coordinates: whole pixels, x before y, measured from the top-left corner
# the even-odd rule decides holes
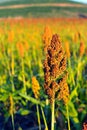
[[[0,130],[87,130],[87,19],[0,20]]]

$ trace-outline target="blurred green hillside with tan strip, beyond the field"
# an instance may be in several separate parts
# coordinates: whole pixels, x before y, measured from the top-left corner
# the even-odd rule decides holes
[[[49,5],[40,5],[44,3]],[[50,3],[61,3],[66,6],[54,6]],[[32,4],[33,6],[31,6]],[[71,4],[71,6],[67,6],[67,4]],[[17,7],[14,8],[14,5]],[[19,7],[20,5],[23,7]],[[10,0],[0,3],[0,17],[87,17],[87,5],[80,5],[82,6],[79,7],[78,3],[70,0]]]

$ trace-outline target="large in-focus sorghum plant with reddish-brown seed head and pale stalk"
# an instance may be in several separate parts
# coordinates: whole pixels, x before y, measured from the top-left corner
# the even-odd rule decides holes
[[[62,99],[65,104],[68,102],[69,89],[66,75],[66,56],[60,38],[55,34],[47,47],[44,60],[44,88],[52,108],[51,130],[54,130],[55,99]]]

